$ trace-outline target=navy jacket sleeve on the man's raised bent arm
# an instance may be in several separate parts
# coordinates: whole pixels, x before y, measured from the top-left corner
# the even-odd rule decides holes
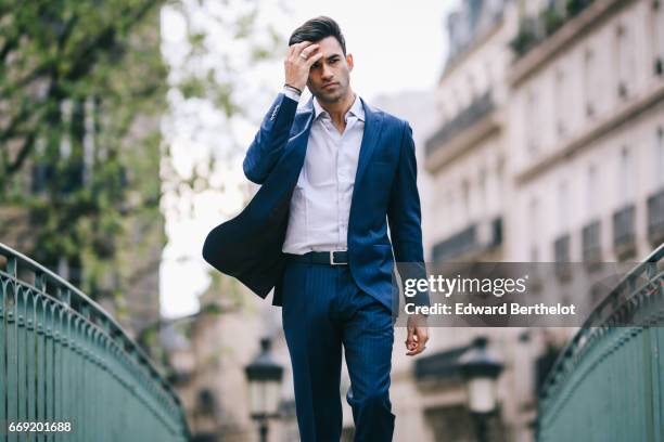
[[[250,145],[242,168],[245,177],[263,184],[281,157],[295,119],[297,102],[280,92]]]

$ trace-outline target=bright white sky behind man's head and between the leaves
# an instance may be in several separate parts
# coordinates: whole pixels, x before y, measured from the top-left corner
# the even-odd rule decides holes
[[[270,4],[265,0],[266,8],[276,6],[274,1]],[[353,90],[371,102],[372,98],[403,91],[435,91],[447,52],[445,17],[457,8],[459,0],[419,0],[408,4],[375,0],[281,0],[281,3],[285,10],[280,10],[282,17],[277,26],[285,38],[317,15],[328,15],[339,23],[346,50],[355,63],[350,74]],[[176,20],[163,14],[162,34],[165,40],[174,40],[181,37],[182,29]],[[261,74],[270,87],[273,82],[277,94],[284,82],[283,65],[274,64]],[[201,115],[205,118],[204,113]],[[180,150],[177,165],[195,166],[189,152],[192,150],[187,146]],[[238,180],[244,179],[241,164],[221,165],[220,170]],[[199,309],[197,296],[207,287],[210,270],[201,258],[201,249],[207,232],[220,221],[221,206],[230,213],[238,212],[242,209],[240,195],[232,191],[221,196],[203,195],[190,217],[166,213],[168,244],[163,255],[159,287],[164,316],[177,317]]]

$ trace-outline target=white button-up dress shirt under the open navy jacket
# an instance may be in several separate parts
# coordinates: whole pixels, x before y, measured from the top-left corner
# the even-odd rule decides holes
[[[297,92],[284,88],[283,93],[299,101]],[[347,249],[350,200],[365,133],[365,109],[357,94],[344,119],[346,128],[341,133],[314,98],[314,121],[291,199],[284,252]]]

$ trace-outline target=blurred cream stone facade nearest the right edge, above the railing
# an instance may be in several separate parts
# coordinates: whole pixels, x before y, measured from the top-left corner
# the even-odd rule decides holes
[[[510,69],[511,255],[638,260],[664,238],[664,5],[577,3]]]

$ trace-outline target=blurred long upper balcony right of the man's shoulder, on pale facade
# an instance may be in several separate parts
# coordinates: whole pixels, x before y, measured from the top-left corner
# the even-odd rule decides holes
[[[454,157],[464,147],[481,140],[488,132],[497,128],[497,122],[489,117],[496,104],[490,91],[475,99],[465,109],[461,110],[450,121],[445,122],[438,130],[426,140],[425,156],[427,168],[432,168],[431,161],[438,156]]]

